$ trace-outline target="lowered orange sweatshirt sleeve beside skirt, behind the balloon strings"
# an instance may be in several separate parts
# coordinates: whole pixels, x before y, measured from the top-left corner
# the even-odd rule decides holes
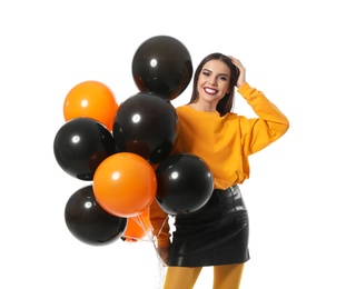
[[[168,221],[168,215],[159,207],[157,200],[154,200],[150,206],[150,222],[158,247],[170,246],[170,227]]]

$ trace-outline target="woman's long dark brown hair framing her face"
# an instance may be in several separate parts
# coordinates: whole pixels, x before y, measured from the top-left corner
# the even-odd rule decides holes
[[[233,104],[234,104],[234,97],[235,97],[235,84],[237,82],[238,76],[239,76],[239,70],[234,66],[234,63],[231,62],[231,60],[219,52],[215,52],[211,54],[208,54],[207,57],[205,57],[199,66],[196,69],[196,72],[194,74],[194,83],[192,83],[192,92],[191,92],[191,98],[189,103],[194,103],[197,101],[197,99],[199,98],[199,92],[198,92],[198,88],[197,88],[197,83],[198,83],[198,78],[200,76],[201,69],[204,67],[204,64],[210,60],[221,60],[224,63],[226,63],[228,66],[228,68],[230,69],[230,80],[229,80],[229,89],[228,89],[228,93],[226,93],[224,96],[224,98],[221,98],[217,104],[216,110],[220,113],[220,116],[225,116],[227,112],[230,112],[233,109]]]

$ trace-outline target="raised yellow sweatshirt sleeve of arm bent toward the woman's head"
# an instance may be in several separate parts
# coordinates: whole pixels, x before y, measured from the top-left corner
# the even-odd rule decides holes
[[[247,82],[239,87],[238,92],[246,99],[258,118],[241,118],[241,131],[247,153],[255,153],[275,140],[279,139],[289,129],[289,120],[265,94],[251,88]]]

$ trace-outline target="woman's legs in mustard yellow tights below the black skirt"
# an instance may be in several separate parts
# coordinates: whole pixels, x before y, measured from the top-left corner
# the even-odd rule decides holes
[[[192,289],[202,267],[168,267],[164,289]],[[244,263],[214,267],[214,289],[238,289]]]

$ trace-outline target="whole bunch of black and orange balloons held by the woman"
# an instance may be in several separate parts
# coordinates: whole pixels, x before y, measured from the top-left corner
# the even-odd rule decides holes
[[[187,213],[212,192],[204,160],[169,156],[179,134],[170,101],[192,77],[186,47],[168,36],[146,40],[135,53],[132,77],[139,91],[120,104],[105,83],[93,80],[78,83],[65,99],[66,122],[53,152],[69,176],[91,182],[65,209],[69,231],[88,245],[149,236],[155,199],[170,215]]]

